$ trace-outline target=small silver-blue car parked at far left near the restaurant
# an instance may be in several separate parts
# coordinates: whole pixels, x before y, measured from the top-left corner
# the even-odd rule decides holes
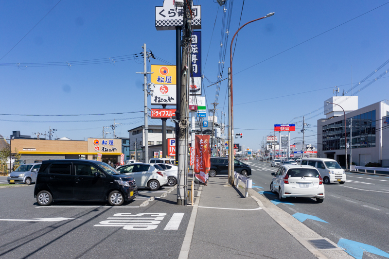
[[[15,171],[8,173],[9,184],[22,183],[30,185],[36,182],[36,174],[39,171],[40,163],[20,165]]]

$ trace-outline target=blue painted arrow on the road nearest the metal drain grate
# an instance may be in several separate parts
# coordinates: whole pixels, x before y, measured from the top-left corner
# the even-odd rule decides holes
[[[351,255],[352,257],[356,259],[362,259],[363,257],[363,251],[366,251],[371,254],[375,254],[378,256],[383,256],[386,258],[389,258],[389,254],[378,249],[375,246],[364,244],[360,242],[355,242],[348,239],[339,239],[339,242],[337,242],[337,245],[342,247],[346,252]]]

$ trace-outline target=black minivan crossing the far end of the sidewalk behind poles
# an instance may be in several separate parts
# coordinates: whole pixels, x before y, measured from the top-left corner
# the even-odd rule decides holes
[[[234,171],[244,176],[251,175],[251,167],[238,159],[234,159]],[[228,174],[228,157],[212,156],[211,168],[208,174],[210,177]]]

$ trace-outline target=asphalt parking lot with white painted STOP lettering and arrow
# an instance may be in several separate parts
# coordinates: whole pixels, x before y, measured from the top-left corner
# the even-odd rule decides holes
[[[177,258],[192,207],[175,205],[175,192],[160,198],[166,190],[141,190],[139,199],[120,207],[90,202],[41,207],[34,185],[2,188],[0,258]],[[156,200],[139,207],[150,196]]]

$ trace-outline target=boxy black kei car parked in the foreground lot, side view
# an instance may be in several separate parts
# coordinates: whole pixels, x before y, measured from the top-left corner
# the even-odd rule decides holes
[[[53,201],[106,201],[120,206],[138,194],[135,180],[103,162],[63,159],[43,161],[34,197],[41,206]]]

